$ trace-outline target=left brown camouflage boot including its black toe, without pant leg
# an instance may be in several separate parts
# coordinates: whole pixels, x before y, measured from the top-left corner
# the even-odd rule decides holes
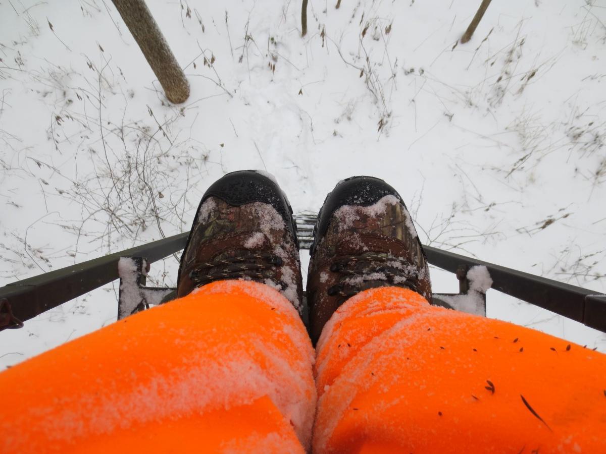
[[[304,322],[293,211],[278,184],[253,170],[217,180],[202,196],[181,255],[177,296],[213,281],[242,279],[278,290]]]

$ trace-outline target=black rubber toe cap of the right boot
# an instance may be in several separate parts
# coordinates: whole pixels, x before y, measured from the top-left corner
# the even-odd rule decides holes
[[[318,222],[314,230],[314,240],[309,252],[313,254],[319,240],[324,237],[328,223],[333,213],[345,205],[370,206],[385,196],[396,196],[402,202],[402,197],[396,189],[375,177],[350,177],[339,182],[333,189],[318,213]],[[404,203],[404,202],[402,202]]]

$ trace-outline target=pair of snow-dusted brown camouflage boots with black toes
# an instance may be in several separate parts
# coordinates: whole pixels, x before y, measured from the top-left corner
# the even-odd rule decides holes
[[[181,256],[178,297],[207,283],[264,283],[293,303],[313,343],[347,298],[381,286],[431,302],[425,253],[398,192],[351,177],[324,200],[314,228],[304,304],[293,210],[278,184],[257,171],[225,175],[205,192]]]

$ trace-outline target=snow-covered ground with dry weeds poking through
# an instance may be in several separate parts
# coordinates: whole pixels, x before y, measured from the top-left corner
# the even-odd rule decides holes
[[[301,38],[300,1],[148,1],[191,84],[170,105],[112,2],[0,1],[0,285],[186,231],[259,168],[295,211],[381,177],[425,244],[606,291],[606,2],[493,2],[467,44],[479,0],[335,3]],[[1,332],[0,368],[112,323],[116,290]],[[606,351],[496,291],[488,316]]]

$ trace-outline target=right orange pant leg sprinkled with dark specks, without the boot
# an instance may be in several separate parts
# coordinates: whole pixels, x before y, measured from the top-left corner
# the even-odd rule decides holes
[[[316,347],[316,452],[606,452],[606,355],[407,289],[362,292]]]

